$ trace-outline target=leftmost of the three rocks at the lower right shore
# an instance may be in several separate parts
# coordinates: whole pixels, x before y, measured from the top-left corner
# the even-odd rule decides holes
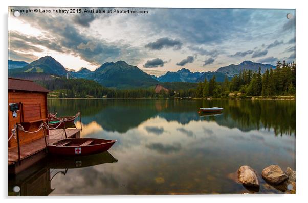
[[[238,181],[244,186],[259,187],[256,172],[249,166],[241,166],[237,171]]]

